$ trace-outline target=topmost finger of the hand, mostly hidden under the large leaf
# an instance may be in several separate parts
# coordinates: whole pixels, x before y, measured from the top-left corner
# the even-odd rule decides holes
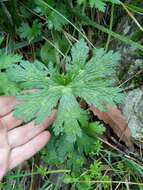
[[[11,112],[16,105],[16,98],[14,96],[1,96],[0,97],[0,117],[5,116]]]

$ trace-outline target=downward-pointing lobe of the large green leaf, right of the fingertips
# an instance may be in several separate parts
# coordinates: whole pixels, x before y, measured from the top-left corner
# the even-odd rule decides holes
[[[80,108],[72,91],[65,88],[60,99],[57,118],[53,125],[55,134],[59,135],[64,132],[67,141],[75,142],[76,138],[82,135],[80,125],[86,125],[87,119],[86,112]]]

